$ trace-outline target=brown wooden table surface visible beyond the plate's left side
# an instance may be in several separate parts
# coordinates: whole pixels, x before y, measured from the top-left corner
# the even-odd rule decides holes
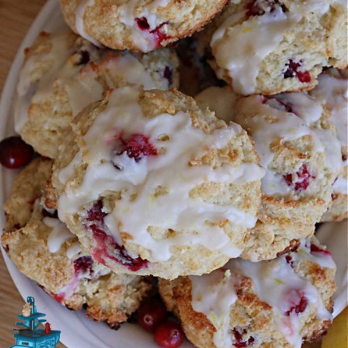
[[[0,93],[17,49],[45,2],[45,0],[0,0]],[[5,262],[0,257],[1,348],[15,343],[11,329],[14,327],[17,314],[22,310],[23,303],[8,274]],[[58,344],[56,347],[64,346]]]

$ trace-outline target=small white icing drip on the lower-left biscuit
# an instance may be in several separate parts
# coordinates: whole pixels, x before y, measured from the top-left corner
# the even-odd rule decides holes
[[[68,239],[74,237],[72,232],[65,226],[65,223],[58,219],[45,217],[42,221],[46,226],[52,228],[47,239],[47,248],[50,253],[56,253]]]

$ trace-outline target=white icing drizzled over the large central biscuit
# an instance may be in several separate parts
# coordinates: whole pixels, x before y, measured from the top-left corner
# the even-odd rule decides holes
[[[121,191],[122,200],[116,200],[113,211],[104,218],[118,244],[122,245],[120,232],[127,232],[132,236],[132,243],[150,250],[155,260],[171,258],[171,246],[191,244],[221,250],[229,257],[238,256],[241,250],[223,229],[206,221],[229,220],[252,228],[256,217],[232,204],[216,205],[191,198],[189,192],[205,182],[244,184],[260,180],[262,168],[257,164],[241,164],[237,168],[226,164],[216,169],[188,164],[193,157],[202,156],[207,148],[225,147],[242,128],[232,124],[205,134],[191,125],[191,118],[184,112],[145,118],[138,100],[139,92],[135,89],[113,90],[106,109],[84,136],[88,167],[81,185],[73,188],[68,182],[59,198],[60,219],[65,221],[67,214],[79,212],[86,203],[98,200],[106,191]],[[120,131],[144,134],[155,148],[160,149],[159,155],[143,157],[138,162],[125,152],[112,155],[112,144],[108,139],[113,139]],[[164,134],[168,139],[161,141]],[[84,150],[80,149],[73,165],[77,163],[77,157],[84,159]],[[68,180],[72,168],[63,171],[60,177]],[[156,196],[158,187],[165,188],[166,193]],[[148,232],[149,226],[180,232],[170,238],[156,239]]]

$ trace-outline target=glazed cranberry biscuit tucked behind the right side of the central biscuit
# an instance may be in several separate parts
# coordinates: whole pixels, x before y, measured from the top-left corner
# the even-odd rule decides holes
[[[196,98],[248,131],[266,170],[258,223],[242,258],[269,260],[312,235],[342,168],[329,111],[306,93],[238,98],[228,87],[212,87]]]

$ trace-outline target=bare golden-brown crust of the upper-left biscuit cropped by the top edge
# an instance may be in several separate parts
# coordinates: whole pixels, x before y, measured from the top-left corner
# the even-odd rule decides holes
[[[159,47],[164,47],[171,42],[200,31],[217,13],[221,12],[227,2],[228,0],[171,0],[167,6],[163,8],[159,6],[156,9],[156,15],[160,18],[158,20],[161,24],[157,28],[165,26],[163,29],[165,35],[159,42]],[[80,4],[81,0],[61,0],[65,20],[75,33],[78,33],[75,15]],[[135,18],[143,17],[140,13],[143,13],[144,10],[145,12],[148,11],[148,5],[144,0],[137,1],[134,6],[134,25],[136,25]],[[118,6],[120,6],[120,3],[115,0],[98,0],[93,6],[88,6],[83,17],[84,31],[102,45],[112,49],[148,52],[158,48],[139,47],[132,36],[132,32],[136,31],[135,27],[122,23],[122,15]],[[128,7],[130,6],[132,5]],[[141,35],[141,31],[138,35]]]

